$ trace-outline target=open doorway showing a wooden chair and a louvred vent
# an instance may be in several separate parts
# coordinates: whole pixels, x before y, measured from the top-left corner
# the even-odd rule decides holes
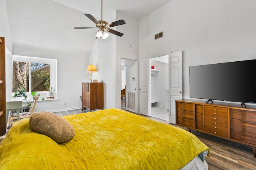
[[[137,95],[136,88],[138,86],[138,64],[137,61],[131,59],[120,59],[120,89],[121,89],[121,109],[136,113]]]

